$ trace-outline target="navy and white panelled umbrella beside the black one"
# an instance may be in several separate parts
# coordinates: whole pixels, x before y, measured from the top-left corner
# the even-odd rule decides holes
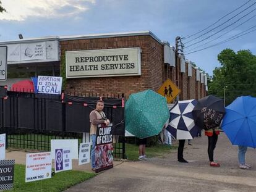
[[[195,125],[192,111],[197,104],[197,100],[178,101],[170,109],[169,123],[166,127],[171,135],[177,140],[189,140],[198,133],[198,127]]]

